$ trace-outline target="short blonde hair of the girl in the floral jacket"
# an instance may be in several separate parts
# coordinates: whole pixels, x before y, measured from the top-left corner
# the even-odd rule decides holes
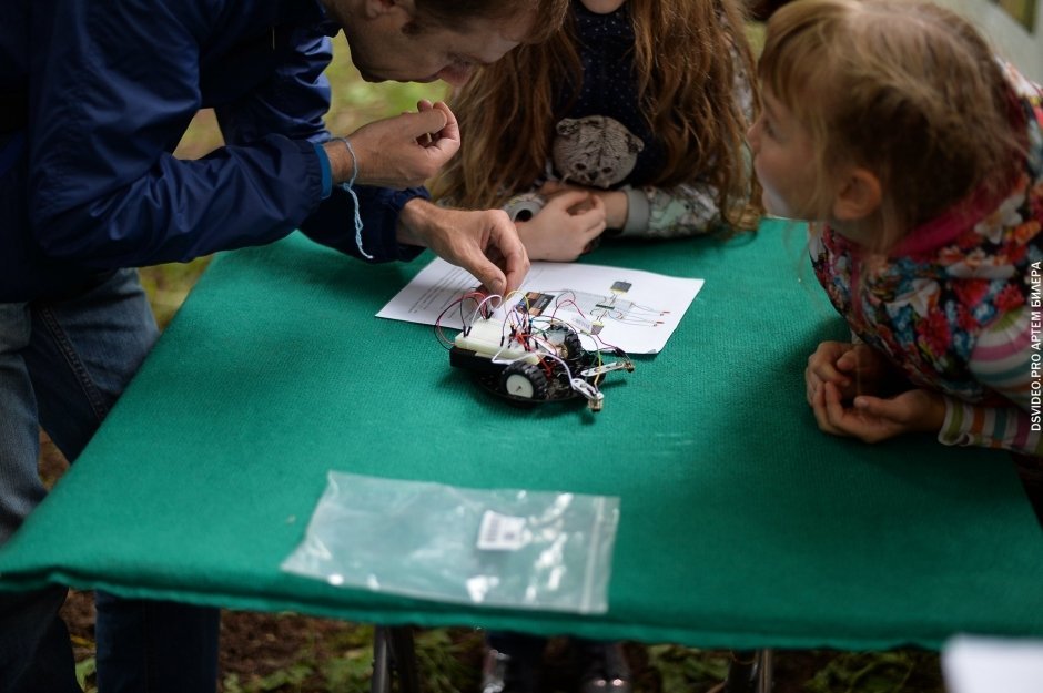
[[[880,180],[887,251],[953,205],[1013,183],[1023,119],[985,40],[913,0],[797,0],[772,14],[758,73],[809,129],[820,190],[841,163]]]

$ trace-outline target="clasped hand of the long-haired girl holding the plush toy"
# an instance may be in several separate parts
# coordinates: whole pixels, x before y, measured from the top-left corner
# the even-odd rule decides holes
[[[561,193],[517,226],[529,259],[571,262],[605,231],[605,205],[586,192]]]

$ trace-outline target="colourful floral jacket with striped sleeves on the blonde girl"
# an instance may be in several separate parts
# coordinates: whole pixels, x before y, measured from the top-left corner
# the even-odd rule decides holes
[[[949,396],[943,442],[1036,455],[1031,393],[1035,387],[1039,429],[1043,90],[1013,69],[1010,79],[1025,112],[1029,154],[1002,204],[950,210],[885,258],[862,257],[828,226],[812,227],[811,256],[852,332],[913,385]],[[1005,411],[1014,405],[1016,411]]]

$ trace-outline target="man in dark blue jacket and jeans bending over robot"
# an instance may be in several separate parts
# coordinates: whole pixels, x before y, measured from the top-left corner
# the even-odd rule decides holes
[[[459,145],[444,104],[325,130],[330,37],[369,81],[460,84],[560,24],[567,0],[3,0],[0,10],[0,543],[42,499],[42,426],[72,460],[156,328],[133,267],[300,228],[372,262],[424,246],[487,289],[528,259],[498,211],[417,187]],[[171,154],[212,106],[225,146]],[[112,492],[119,492],[113,489]],[[79,691],[64,589],[0,594],[0,691]],[[213,609],[97,599],[98,682],[213,691]]]

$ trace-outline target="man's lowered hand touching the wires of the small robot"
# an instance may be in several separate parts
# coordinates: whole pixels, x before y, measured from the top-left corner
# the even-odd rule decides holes
[[[398,242],[429,247],[473,274],[488,294],[506,296],[529,271],[525,246],[502,210],[447,210],[411,200],[398,217]]]

